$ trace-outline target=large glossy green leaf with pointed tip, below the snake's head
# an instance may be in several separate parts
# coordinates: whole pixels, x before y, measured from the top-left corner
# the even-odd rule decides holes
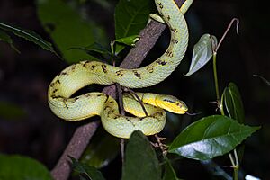
[[[236,148],[260,127],[249,127],[227,116],[212,115],[193,122],[173,141],[168,151],[183,157],[206,160]]]

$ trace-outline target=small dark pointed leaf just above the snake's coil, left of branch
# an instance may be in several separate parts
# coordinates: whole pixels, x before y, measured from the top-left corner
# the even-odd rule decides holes
[[[94,42],[93,44],[91,44],[90,46],[86,46],[85,48],[70,48],[70,49],[83,50],[87,54],[100,60],[105,59],[112,60],[112,58],[115,58],[114,55],[108,49],[105,49],[101,44],[97,42]]]

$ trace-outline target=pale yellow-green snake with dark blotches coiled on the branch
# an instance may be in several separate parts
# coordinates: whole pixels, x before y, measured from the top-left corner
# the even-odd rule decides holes
[[[100,92],[74,94],[92,84],[118,83],[129,88],[143,88],[164,81],[184,58],[188,44],[184,14],[192,3],[193,0],[186,0],[179,8],[174,0],[155,0],[158,17],[161,17],[159,22],[166,23],[171,39],[166,51],[149,65],[126,69],[100,61],[83,60],[58,73],[48,90],[51,111],[66,121],[81,121],[98,115],[103,128],[121,139],[129,139],[134,130],[140,130],[147,136],[157,134],[165,127],[166,111],[187,112],[183,101],[168,94],[136,93],[141,102],[134,94],[123,94],[124,110],[134,116],[121,115],[118,103],[110,95]]]

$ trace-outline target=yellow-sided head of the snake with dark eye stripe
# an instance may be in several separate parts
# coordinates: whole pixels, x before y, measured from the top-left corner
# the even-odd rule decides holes
[[[172,95],[157,95],[156,104],[158,107],[165,109],[168,112],[184,114],[188,108],[185,103]]]

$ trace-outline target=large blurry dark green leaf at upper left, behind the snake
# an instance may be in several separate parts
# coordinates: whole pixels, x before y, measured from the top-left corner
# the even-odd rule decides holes
[[[38,0],[40,22],[68,63],[94,58],[83,50],[94,41],[104,42],[103,29],[97,24],[85,21],[80,14],[61,0]]]

